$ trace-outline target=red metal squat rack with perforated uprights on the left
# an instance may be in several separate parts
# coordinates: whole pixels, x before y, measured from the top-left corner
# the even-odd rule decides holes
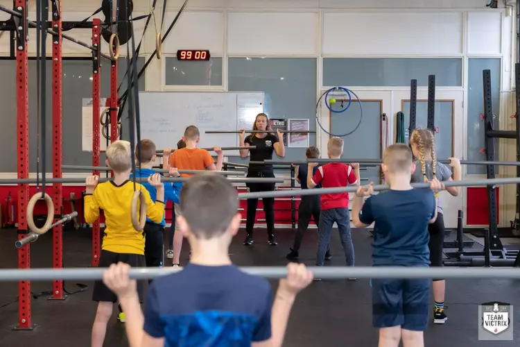
[[[13,17],[17,26],[16,33],[16,60],[17,60],[17,177],[28,178],[29,174],[29,106],[28,106],[28,46],[27,46],[27,8],[26,0],[15,0],[15,11],[20,15]],[[61,1],[52,3],[52,119],[53,119],[53,177],[62,177],[62,11]],[[93,98],[93,136],[92,136],[92,164],[100,165],[100,102],[101,102],[101,20],[92,21],[92,98]],[[117,122],[117,61],[111,62],[110,78],[110,123],[111,139],[116,140],[119,134]],[[94,172],[94,174],[99,174]],[[18,239],[21,240],[28,234],[26,222],[26,206],[29,200],[29,185],[19,184],[17,216],[18,216]],[[54,219],[58,221],[63,214],[63,191],[62,184],[53,184]],[[100,246],[99,221],[92,228],[92,265],[97,266]],[[53,228],[53,268],[60,269],[63,266],[63,243],[61,224]],[[19,269],[31,267],[31,244],[25,244],[18,250]],[[19,281],[18,285],[18,310],[19,318],[15,330],[32,330],[31,321],[31,281]],[[51,299],[64,300],[63,281],[53,281],[53,292]]]

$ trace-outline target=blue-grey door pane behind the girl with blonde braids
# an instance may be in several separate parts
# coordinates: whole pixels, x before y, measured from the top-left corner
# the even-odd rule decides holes
[[[405,128],[410,124],[410,101],[403,103]],[[417,101],[417,128],[428,128],[428,101]],[[453,154],[453,101],[435,101],[435,154],[448,159]],[[408,144],[409,136],[406,136]]]

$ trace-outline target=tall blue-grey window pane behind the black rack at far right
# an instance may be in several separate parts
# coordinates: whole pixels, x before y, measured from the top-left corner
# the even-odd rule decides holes
[[[500,114],[500,58],[469,58],[468,61],[468,92],[467,92],[467,160],[486,160],[485,153],[480,149],[485,147],[485,122],[480,114],[484,112],[483,70],[491,70],[491,96],[494,128],[499,128]],[[499,141],[495,139],[495,153],[499,153]],[[495,160],[499,160],[495,158]],[[467,174],[486,174],[482,165],[468,165]]]

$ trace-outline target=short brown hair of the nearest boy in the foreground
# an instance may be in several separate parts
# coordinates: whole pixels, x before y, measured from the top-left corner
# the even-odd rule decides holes
[[[180,210],[198,239],[219,237],[239,208],[236,188],[223,175],[198,174],[180,191]]]

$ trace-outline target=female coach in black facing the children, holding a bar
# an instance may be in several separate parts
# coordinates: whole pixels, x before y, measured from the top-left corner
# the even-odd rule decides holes
[[[269,126],[269,117],[265,113],[259,113],[254,119],[253,130],[271,130]],[[279,158],[285,155],[284,136],[277,130],[277,135],[272,133],[252,133],[245,137],[245,130],[239,135],[240,146],[256,146],[256,149],[241,149],[240,156],[245,159],[248,152],[251,152],[250,161],[261,162],[263,160],[272,160],[272,152],[275,151]],[[272,164],[249,164],[247,177],[275,177]],[[275,183],[247,183],[246,186],[250,192],[271,192],[275,190]],[[266,213],[268,243],[276,246],[275,239],[275,198],[262,198],[263,212]],[[245,237],[243,244],[246,246],[253,244],[253,226],[254,219],[257,216],[257,198],[248,199],[248,217],[245,222],[245,231],[248,235]]]

